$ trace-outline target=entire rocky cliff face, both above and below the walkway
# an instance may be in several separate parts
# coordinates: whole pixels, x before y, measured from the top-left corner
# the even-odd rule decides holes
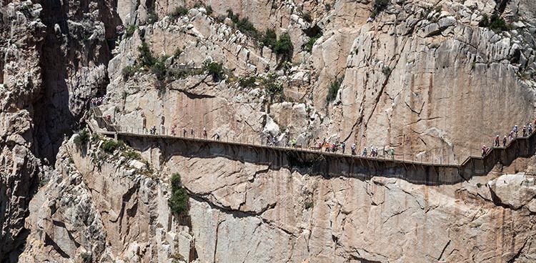
[[[65,141],[105,95],[101,111],[134,132],[344,140],[460,162],[535,114],[535,10],[530,0],[4,1],[0,262],[534,261],[534,179],[517,174],[534,159],[427,187],[274,169],[253,152],[240,161],[146,145],[134,160],[99,140]],[[267,29],[288,34],[292,52]],[[175,172],[187,218],[167,206]]]

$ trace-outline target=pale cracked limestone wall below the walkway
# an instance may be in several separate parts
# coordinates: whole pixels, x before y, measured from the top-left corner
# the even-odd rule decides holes
[[[31,235],[21,259],[81,262],[87,255],[92,262],[535,259],[532,176],[490,174],[438,187],[384,177],[326,178],[286,167],[274,169],[254,154],[204,158],[204,149],[194,144],[171,144],[165,151],[143,147],[142,158],[159,171],[148,174],[144,165],[135,168],[139,161],[121,157],[121,152],[101,158],[99,144],[86,151],[72,143],[61,148],[58,173],[31,201],[26,220]],[[189,193],[190,225],[181,226],[167,207],[167,182],[175,172]]]

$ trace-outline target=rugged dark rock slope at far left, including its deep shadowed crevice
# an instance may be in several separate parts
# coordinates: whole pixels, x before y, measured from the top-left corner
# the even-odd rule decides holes
[[[14,262],[31,197],[88,98],[106,91],[115,23],[106,1],[3,1],[0,14],[0,261]]]

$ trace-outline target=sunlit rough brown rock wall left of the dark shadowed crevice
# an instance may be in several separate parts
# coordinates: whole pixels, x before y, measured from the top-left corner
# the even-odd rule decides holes
[[[34,109],[41,89],[39,69],[44,25],[41,6],[14,2],[0,6],[0,261],[11,262],[28,235],[24,218],[39,182],[34,156]],[[30,33],[30,34],[29,34]]]

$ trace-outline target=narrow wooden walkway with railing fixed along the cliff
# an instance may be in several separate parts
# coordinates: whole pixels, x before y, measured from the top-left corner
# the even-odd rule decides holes
[[[97,108],[94,108],[97,109]],[[103,134],[106,136],[113,136],[115,139],[138,139],[144,141],[165,141],[167,143],[180,141],[184,143],[191,144],[223,144],[229,147],[239,147],[245,149],[257,149],[257,150],[267,150],[267,151],[276,151],[284,152],[289,157],[299,157],[303,156],[317,156],[322,157],[323,159],[345,159],[345,162],[356,164],[357,166],[362,167],[372,167],[375,172],[378,172],[378,169],[389,173],[392,169],[396,167],[402,168],[405,171],[410,170],[408,167],[413,167],[417,170],[423,169],[424,171],[432,171],[432,174],[435,176],[440,176],[442,172],[440,170],[455,170],[455,174],[459,179],[447,179],[445,182],[461,182],[468,180],[474,176],[482,176],[488,174],[496,164],[510,165],[515,159],[519,157],[531,157],[535,154],[535,144],[536,144],[536,132],[533,132],[528,137],[518,137],[507,147],[494,147],[484,157],[467,157],[460,164],[445,164],[442,162],[419,162],[417,160],[408,160],[408,159],[397,159],[396,157],[392,159],[390,156],[387,157],[362,157],[359,155],[351,154],[342,154],[339,152],[322,152],[317,149],[302,149],[302,148],[293,148],[293,147],[278,147],[265,144],[254,144],[252,142],[229,142],[229,141],[218,141],[214,139],[203,139],[195,137],[179,137],[165,134],[144,134],[138,132],[123,132],[121,131],[120,126],[109,124],[106,121],[106,118],[102,116],[100,111],[94,110],[94,120],[99,125],[99,127],[91,124],[91,121],[86,121],[91,132],[96,132],[97,134]],[[452,172],[448,172],[452,173]],[[429,178],[430,175],[422,175],[423,178]],[[452,176],[450,176],[452,177]],[[436,182],[436,183],[439,183]]]

